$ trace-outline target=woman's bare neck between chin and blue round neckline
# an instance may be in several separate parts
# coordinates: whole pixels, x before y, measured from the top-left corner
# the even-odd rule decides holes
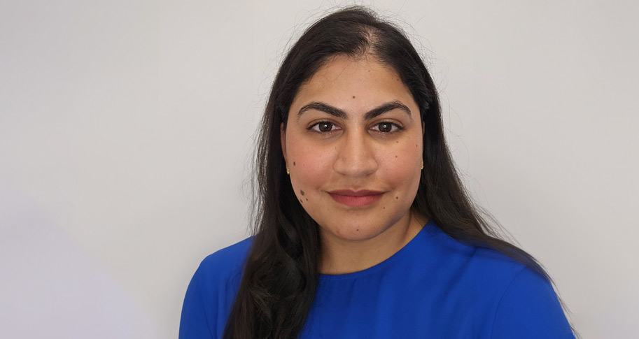
[[[377,236],[365,240],[344,240],[322,235],[322,274],[346,274],[363,271],[393,256],[426,224],[426,218],[407,213],[400,221]]]

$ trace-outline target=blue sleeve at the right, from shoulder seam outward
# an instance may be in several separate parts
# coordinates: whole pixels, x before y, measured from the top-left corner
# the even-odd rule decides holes
[[[492,338],[575,338],[552,284],[524,268],[496,311]]]

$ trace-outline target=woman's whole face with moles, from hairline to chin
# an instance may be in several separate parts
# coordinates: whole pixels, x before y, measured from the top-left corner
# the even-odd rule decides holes
[[[367,240],[410,219],[423,129],[399,75],[335,57],[300,87],[281,132],[290,182],[325,240]]]

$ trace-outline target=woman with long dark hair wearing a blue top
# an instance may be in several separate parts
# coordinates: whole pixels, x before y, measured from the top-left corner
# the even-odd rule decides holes
[[[391,24],[349,8],[307,29],[258,145],[255,236],[204,259],[181,338],[573,338],[543,269],[470,203]]]

